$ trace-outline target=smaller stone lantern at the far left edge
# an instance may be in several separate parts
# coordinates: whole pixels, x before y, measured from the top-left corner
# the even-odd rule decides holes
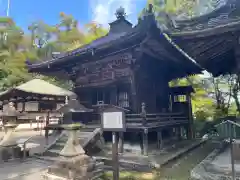
[[[21,113],[16,111],[13,103],[9,103],[0,115],[2,116],[5,130],[5,135],[0,142],[1,160],[7,161],[8,159],[19,158],[21,156],[21,148],[18,147],[12,135],[15,128],[18,126],[17,118]]]

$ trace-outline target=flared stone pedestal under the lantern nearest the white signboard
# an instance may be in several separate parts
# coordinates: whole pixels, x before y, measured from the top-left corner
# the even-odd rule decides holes
[[[65,126],[69,131],[67,143],[60,152],[59,159],[43,175],[46,180],[90,180],[98,174],[94,172],[96,162],[85,154],[79,144],[76,132],[80,127]]]

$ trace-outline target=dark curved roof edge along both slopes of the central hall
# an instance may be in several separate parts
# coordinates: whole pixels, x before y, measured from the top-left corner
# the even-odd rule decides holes
[[[151,28],[150,28],[151,27]],[[154,27],[154,28],[153,28]],[[172,51],[173,53],[176,53],[177,56],[182,59],[179,61],[180,63],[187,64],[186,65],[186,69],[185,69],[185,73],[183,73],[184,76],[187,75],[191,75],[191,74],[200,74],[201,71],[203,70],[192,58],[190,58],[183,50],[181,50],[178,46],[176,46],[176,44],[174,44],[170,38],[166,37],[166,34],[163,34],[161,32],[161,30],[157,27],[156,21],[154,16],[149,16],[146,19],[142,20],[142,22],[135,26],[132,31],[124,34],[123,36],[121,36],[120,38],[117,38],[113,41],[110,42],[106,42],[103,43],[101,45],[99,45],[98,47],[94,48],[94,51],[96,52],[96,55],[98,54],[98,52],[101,52],[103,50],[106,50],[108,48],[112,48],[113,46],[116,45],[121,45],[121,44],[125,44],[125,43],[129,43],[132,42],[135,43],[136,39],[140,40],[140,39],[144,39],[144,37],[146,37],[147,33],[150,31],[150,29],[152,29],[153,32],[155,33],[155,37],[159,38],[159,35],[164,36],[164,44],[163,46],[167,46],[169,48],[170,51]],[[155,30],[153,30],[155,29]],[[160,39],[159,39],[160,40]],[[57,65],[59,66],[60,64],[66,64],[66,63],[76,63],[76,60],[80,60],[80,56],[81,59],[83,59],[83,57],[85,57],[84,55],[91,55],[92,51],[92,46],[90,44],[90,48],[86,48],[89,47],[89,45],[84,46],[83,48],[71,51],[69,56],[61,56],[57,59],[53,59],[53,60],[49,60],[49,61],[45,61],[42,63],[38,63],[38,64],[32,64],[32,65],[28,65],[29,68],[29,72],[47,72],[47,71],[51,71],[53,70],[54,67],[56,67]],[[75,58],[76,56],[79,56],[79,58]],[[56,65],[56,66],[55,66]]]

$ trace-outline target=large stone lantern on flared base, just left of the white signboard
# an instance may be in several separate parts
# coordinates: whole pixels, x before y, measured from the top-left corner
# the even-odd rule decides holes
[[[59,153],[57,161],[48,168],[47,173],[43,175],[44,179],[76,179],[90,180],[99,176],[102,164],[97,164],[94,159],[85,154],[77,137],[77,131],[83,126],[81,123],[71,124],[73,114],[77,111],[76,107],[69,102],[63,106],[61,112],[64,113],[64,124],[55,128],[68,131],[68,140]],[[79,109],[78,109],[79,110]],[[66,116],[67,115],[67,116]],[[69,119],[66,119],[69,118]]]

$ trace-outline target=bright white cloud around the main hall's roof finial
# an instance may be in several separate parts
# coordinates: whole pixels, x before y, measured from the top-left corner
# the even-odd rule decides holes
[[[90,0],[92,20],[107,26],[116,19],[116,9],[122,6],[127,14],[127,19],[133,24],[137,19],[136,3],[142,0]]]

